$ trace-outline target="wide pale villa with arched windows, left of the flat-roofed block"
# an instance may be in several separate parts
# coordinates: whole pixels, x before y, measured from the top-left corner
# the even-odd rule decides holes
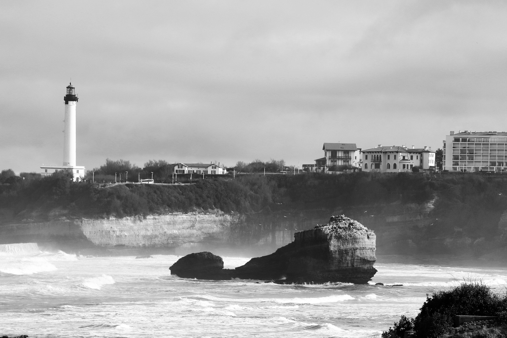
[[[402,146],[382,146],[361,151],[363,171],[404,172],[412,168],[435,168],[435,152],[430,147],[408,148]]]

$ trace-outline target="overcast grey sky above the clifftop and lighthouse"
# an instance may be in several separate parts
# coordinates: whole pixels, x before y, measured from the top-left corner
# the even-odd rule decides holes
[[[501,1],[0,2],[0,169],[313,163],[323,142],[507,131]]]

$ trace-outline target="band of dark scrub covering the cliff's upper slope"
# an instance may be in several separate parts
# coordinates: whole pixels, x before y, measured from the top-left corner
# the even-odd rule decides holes
[[[240,213],[278,210],[336,210],[362,205],[422,203],[438,196],[434,213],[445,214],[447,231],[467,223],[488,223],[507,209],[507,177],[472,174],[352,173],[342,175],[242,175],[235,179],[200,179],[192,185],[130,184],[99,187],[71,182],[68,174],[0,184],[0,220],[44,218],[51,210],[70,216],[148,215],[166,212],[221,210]],[[480,219],[480,222],[477,220]],[[493,222],[494,223],[494,222]],[[491,229],[479,229],[489,231]]]

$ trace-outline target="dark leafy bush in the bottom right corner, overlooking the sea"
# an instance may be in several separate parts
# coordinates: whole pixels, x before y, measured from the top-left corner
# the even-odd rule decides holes
[[[426,295],[426,302],[415,318],[402,316],[382,338],[403,338],[405,331],[415,331],[416,338],[450,336],[454,316],[497,316],[498,327],[466,332],[455,337],[505,337],[507,333],[507,295],[496,294],[481,282],[462,283],[450,290]]]

